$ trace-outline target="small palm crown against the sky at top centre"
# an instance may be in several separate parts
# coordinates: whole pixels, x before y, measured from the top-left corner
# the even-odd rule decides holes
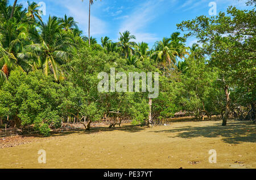
[[[134,49],[133,47],[137,45],[134,41],[130,41],[131,39],[136,39],[134,35],[131,35],[129,31],[125,31],[119,37],[119,47],[121,47],[122,55],[127,58],[129,55],[133,55]]]

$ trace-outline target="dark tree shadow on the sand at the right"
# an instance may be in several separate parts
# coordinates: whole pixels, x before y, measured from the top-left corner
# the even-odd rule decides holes
[[[255,124],[251,122],[233,122],[228,123],[227,126],[222,126],[221,123],[215,125],[207,125],[204,127],[179,127],[175,129],[168,129],[163,131],[150,131],[150,132],[166,132],[177,133],[174,136],[168,137],[181,137],[192,139],[194,137],[222,137],[225,143],[240,144],[242,142],[256,142]]]

